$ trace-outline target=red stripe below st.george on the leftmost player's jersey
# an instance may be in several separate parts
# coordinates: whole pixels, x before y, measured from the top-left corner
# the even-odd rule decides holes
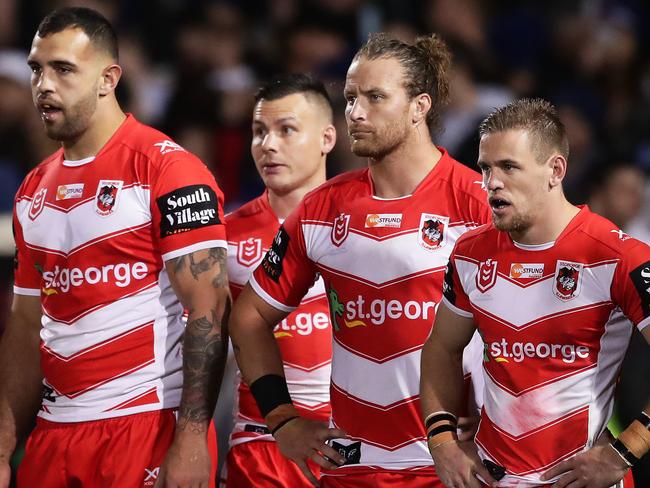
[[[57,355],[41,346],[41,367],[48,383],[74,398],[154,361],[153,322],[73,354]]]

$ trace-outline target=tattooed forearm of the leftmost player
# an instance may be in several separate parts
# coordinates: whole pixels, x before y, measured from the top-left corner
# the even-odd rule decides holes
[[[207,432],[228,355],[227,294],[220,306],[190,312],[183,338],[183,395],[179,431]]]

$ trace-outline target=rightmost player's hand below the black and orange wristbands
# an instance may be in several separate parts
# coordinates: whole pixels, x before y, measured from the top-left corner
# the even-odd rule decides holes
[[[447,487],[481,488],[483,483],[495,486],[496,480],[483,466],[476,452],[476,445],[470,441],[445,442],[435,447],[431,457],[436,473]]]

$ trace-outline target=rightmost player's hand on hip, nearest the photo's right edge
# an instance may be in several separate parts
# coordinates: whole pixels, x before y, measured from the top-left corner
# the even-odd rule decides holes
[[[625,476],[628,466],[609,444],[598,444],[546,471],[541,479],[560,478],[553,488],[607,488]]]

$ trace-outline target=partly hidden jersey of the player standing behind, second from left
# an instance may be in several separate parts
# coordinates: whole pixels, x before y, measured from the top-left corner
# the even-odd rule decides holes
[[[226,216],[228,277],[233,299],[262,261],[280,222],[263,195]],[[315,279],[312,276],[312,282]],[[319,277],[300,302],[275,328],[284,374],[295,407],[305,417],[327,422],[332,363],[332,326],[323,280]],[[272,441],[248,385],[237,374],[235,426],[231,444]]]

